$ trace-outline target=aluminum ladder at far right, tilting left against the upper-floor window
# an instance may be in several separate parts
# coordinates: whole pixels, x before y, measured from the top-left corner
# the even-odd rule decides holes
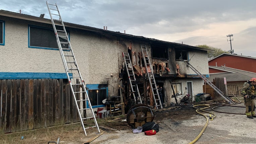
[[[199,75],[210,87],[212,87],[221,97],[223,97],[230,104],[235,104],[229,97],[225,96],[214,84],[212,84],[205,76],[203,76],[198,70],[196,70],[189,61],[184,61],[188,67],[190,67],[197,75]]]

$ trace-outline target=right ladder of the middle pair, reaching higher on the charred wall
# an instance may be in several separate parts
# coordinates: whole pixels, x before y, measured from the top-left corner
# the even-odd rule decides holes
[[[140,44],[140,47],[141,47],[141,52],[142,52],[143,59],[144,59],[145,70],[146,70],[146,73],[147,73],[147,76],[148,76],[148,81],[150,83],[150,88],[151,88],[151,91],[152,91],[152,94],[153,94],[153,98],[154,98],[156,108],[157,109],[159,107],[163,108],[162,102],[160,100],[159,93],[158,93],[158,90],[157,90],[157,87],[156,87],[155,78],[154,78],[154,74],[153,74],[153,69],[152,69],[152,66],[151,66],[151,63],[150,63],[150,60],[149,60],[149,57],[148,57],[146,45],[145,44]]]

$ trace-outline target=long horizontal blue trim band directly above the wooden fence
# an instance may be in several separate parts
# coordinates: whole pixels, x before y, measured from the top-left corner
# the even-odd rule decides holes
[[[72,76],[69,73],[69,76]],[[0,72],[0,79],[67,79],[66,73]]]

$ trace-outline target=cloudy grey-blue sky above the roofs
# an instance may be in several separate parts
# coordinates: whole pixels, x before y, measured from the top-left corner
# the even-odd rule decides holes
[[[48,0],[64,22],[256,57],[256,0]],[[0,9],[50,19],[45,0],[1,0]],[[227,35],[233,34],[233,37]]]

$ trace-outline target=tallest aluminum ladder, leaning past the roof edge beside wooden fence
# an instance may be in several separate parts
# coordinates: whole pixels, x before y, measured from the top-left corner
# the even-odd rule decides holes
[[[46,4],[52,20],[52,25],[56,35],[57,44],[61,54],[62,62],[65,67],[65,71],[70,84],[70,89],[72,91],[72,94],[76,103],[76,109],[80,117],[84,134],[87,135],[85,131],[86,129],[93,128],[93,127],[97,127],[98,131],[100,132],[97,120],[92,110],[91,103],[84,85],[84,81],[78,69],[77,62],[75,60],[75,56],[71,48],[70,41],[68,39],[68,35],[66,32],[65,26],[63,24],[62,18],[60,16],[60,12],[57,7],[57,4],[48,4],[47,1],[46,1]],[[79,79],[81,83],[77,84],[76,79]],[[76,91],[75,87],[78,85],[82,86],[83,88],[82,91]],[[89,108],[87,108],[87,104]],[[89,114],[92,116],[86,117],[86,114],[87,114],[86,112],[89,112]],[[89,127],[85,127],[85,124],[84,124],[85,120],[91,119],[91,118],[93,118],[94,124],[90,125]]]

